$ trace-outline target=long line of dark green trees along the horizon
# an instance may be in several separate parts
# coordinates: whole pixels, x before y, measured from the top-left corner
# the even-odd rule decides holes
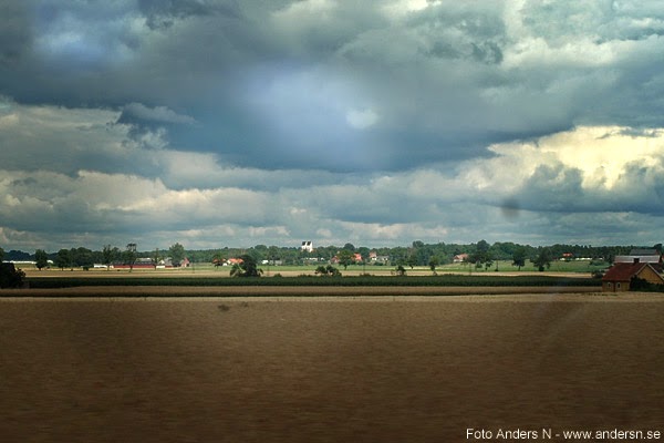
[[[466,262],[475,267],[490,268],[498,260],[511,260],[515,266],[525,266],[526,260],[532,261],[540,269],[547,268],[552,260],[589,258],[592,260],[603,260],[613,262],[616,255],[625,255],[635,246],[590,246],[590,245],[551,245],[551,246],[530,246],[520,245],[511,241],[497,241],[490,245],[486,240],[479,240],[471,244],[425,244],[421,240],[413,241],[409,246],[378,247],[369,248],[366,246],[354,246],[346,243],[343,246],[319,246],[313,251],[301,250],[299,247],[279,247],[256,245],[250,248],[217,248],[217,249],[196,249],[186,250],[183,245],[176,243],[169,248],[154,250],[138,250],[135,243],[129,243],[126,247],[116,247],[104,245],[100,250],[92,250],[84,247],[63,248],[55,253],[46,253],[43,249],[37,249],[33,254],[10,250],[3,253],[4,260],[31,260],[37,261],[39,268],[46,267],[49,260],[53,266],[61,269],[86,268],[94,264],[110,266],[114,262],[133,265],[142,258],[152,258],[158,262],[163,258],[170,258],[174,264],[178,264],[185,257],[193,262],[221,262],[228,258],[238,258],[241,256],[250,257],[253,262],[261,264],[281,262],[283,265],[314,265],[330,262],[335,257],[344,268],[355,264],[355,256],[361,257],[361,264],[370,262],[370,254],[373,251],[380,257],[386,257],[386,261],[376,261],[375,265],[402,266],[413,268],[415,266],[429,267],[435,271],[437,266],[453,262],[456,256],[467,255]],[[642,246],[641,246],[642,247]],[[652,248],[662,250],[662,244],[654,245]]]

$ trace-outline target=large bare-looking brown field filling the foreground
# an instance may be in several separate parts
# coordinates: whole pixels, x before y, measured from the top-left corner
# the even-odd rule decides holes
[[[6,298],[0,435],[461,442],[468,427],[537,440],[551,429],[551,441],[567,430],[664,432],[663,319],[664,297],[639,293]]]

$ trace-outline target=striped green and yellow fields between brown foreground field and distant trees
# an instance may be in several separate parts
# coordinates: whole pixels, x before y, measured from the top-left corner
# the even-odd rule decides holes
[[[229,267],[195,264],[177,269],[50,269],[39,271],[25,267],[27,282],[33,289],[75,288],[91,286],[120,287],[599,287],[591,271],[605,268],[590,261],[556,261],[546,272],[531,265],[519,270],[510,261],[498,261],[489,269],[469,265],[446,265],[436,268],[406,268],[406,276],[395,275],[392,266],[352,265],[339,267],[342,277],[315,276],[317,266],[262,266],[261,278],[230,278]]]

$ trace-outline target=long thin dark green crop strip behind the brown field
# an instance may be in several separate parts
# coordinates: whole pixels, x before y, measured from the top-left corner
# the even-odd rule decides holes
[[[356,286],[393,286],[393,287],[595,287],[598,280],[582,277],[551,277],[551,276],[519,276],[519,277],[480,277],[480,276],[357,276],[357,277],[273,277],[273,278],[196,278],[196,277],[133,277],[122,278],[82,278],[82,277],[53,277],[29,279],[31,288],[71,288],[81,286],[313,286],[313,287],[356,287]]]

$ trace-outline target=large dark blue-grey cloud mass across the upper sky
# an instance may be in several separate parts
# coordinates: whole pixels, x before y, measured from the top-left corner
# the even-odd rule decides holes
[[[22,61],[2,93],[121,122],[132,103],[178,110],[201,125],[168,127],[172,143],[247,167],[413,168],[579,123],[662,123],[653,4],[405,4],[9,2],[3,59]],[[621,55],[566,52],[579,41]],[[349,125],[363,110],[376,122]]]

